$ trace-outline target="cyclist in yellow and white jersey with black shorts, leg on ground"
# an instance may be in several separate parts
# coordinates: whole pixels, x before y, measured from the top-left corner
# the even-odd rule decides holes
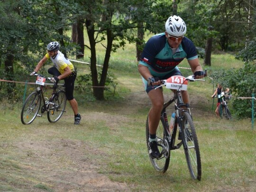
[[[52,60],[54,67],[49,68],[48,73],[54,75],[52,81],[56,83],[58,83],[60,79],[64,79],[66,97],[74,112],[74,124],[78,125],[81,121],[81,115],[78,113],[77,101],[73,97],[76,71],[73,64],[67,58],[65,58],[62,52],[59,51],[59,48],[60,44],[58,42],[50,42],[47,45],[46,55],[38,62],[34,72],[32,72],[30,75],[36,74],[47,59],[50,58]]]

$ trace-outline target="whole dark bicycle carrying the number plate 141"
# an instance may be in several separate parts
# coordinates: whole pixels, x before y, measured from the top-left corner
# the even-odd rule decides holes
[[[183,145],[190,175],[193,179],[201,180],[201,158],[196,130],[193,124],[189,104],[184,103],[182,98],[182,92],[187,90],[188,81],[193,82],[204,80],[194,79],[193,75],[186,78],[183,76],[174,75],[167,80],[161,80],[161,85],[155,88],[158,89],[165,86],[168,89],[176,90],[176,92],[174,93],[174,97],[172,99],[164,103],[160,122],[156,131],[156,139],[160,156],[159,158],[153,159],[149,154],[149,158],[153,167],[155,167],[157,171],[165,173],[170,163],[170,151],[177,150]],[[173,128],[170,129],[167,117],[171,117],[171,114],[167,115],[167,108],[172,103],[175,103],[175,119]],[[175,145],[177,130],[179,130],[181,134],[181,141]],[[147,149],[150,150],[148,145],[148,116],[146,120],[146,143]]]

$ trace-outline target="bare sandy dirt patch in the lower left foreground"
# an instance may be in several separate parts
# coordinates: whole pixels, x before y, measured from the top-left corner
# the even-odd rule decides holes
[[[42,189],[54,189],[56,192],[128,192],[128,186],[112,182],[105,175],[98,173],[98,165],[93,159],[83,159],[81,151],[101,153],[90,149],[81,141],[59,140],[55,142],[20,142],[18,149],[28,158],[23,159],[25,174],[43,178]],[[66,162],[66,164],[60,164]],[[26,167],[25,167],[26,165]],[[28,166],[30,165],[30,166]],[[40,184],[37,185],[40,188]],[[29,190],[30,191],[30,190]],[[38,189],[38,191],[41,191]],[[35,192],[35,187],[31,189]]]

